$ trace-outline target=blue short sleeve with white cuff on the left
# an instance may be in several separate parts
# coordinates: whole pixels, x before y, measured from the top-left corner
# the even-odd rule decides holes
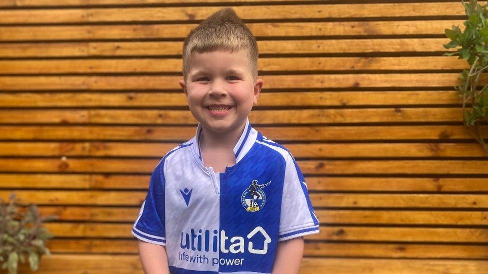
[[[132,226],[132,235],[144,242],[165,246],[163,161],[151,174],[147,195]]]

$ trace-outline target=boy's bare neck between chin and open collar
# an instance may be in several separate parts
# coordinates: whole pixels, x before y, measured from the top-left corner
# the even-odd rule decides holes
[[[211,131],[202,128],[202,134],[200,137],[200,149],[216,148],[232,150],[235,144],[237,144],[237,141],[239,141],[239,138],[244,131],[244,126],[245,123],[227,132]]]

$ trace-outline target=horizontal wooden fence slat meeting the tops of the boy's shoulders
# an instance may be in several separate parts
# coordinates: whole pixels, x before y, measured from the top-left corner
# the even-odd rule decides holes
[[[178,143],[0,142],[0,156],[161,157]],[[295,158],[485,157],[479,144],[371,143],[286,144]]]

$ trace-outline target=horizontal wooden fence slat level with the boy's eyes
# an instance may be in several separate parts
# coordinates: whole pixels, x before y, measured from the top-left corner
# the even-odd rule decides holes
[[[452,87],[458,73],[266,75],[265,89]],[[180,76],[0,76],[2,90],[180,90]],[[481,77],[480,81],[485,81]]]

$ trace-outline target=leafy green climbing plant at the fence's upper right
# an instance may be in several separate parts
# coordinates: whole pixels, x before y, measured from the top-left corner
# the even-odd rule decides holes
[[[480,5],[476,0],[470,0],[468,3],[461,0],[461,3],[468,17],[463,23],[464,31],[461,31],[459,26],[446,28],[445,36],[451,41],[443,45],[447,49],[460,48],[444,55],[459,55],[459,59],[466,59],[469,64],[469,69],[462,70],[458,78],[460,84],[455,89],[462,97],[464,125],[488,153],[480,123],[488,117],[488,78],[481,77],[481,74],[488,71],[487,4]],[[481,84],[484,86],[481,87]],[[467,102],[471,105],[469,109],[466,108]]]

